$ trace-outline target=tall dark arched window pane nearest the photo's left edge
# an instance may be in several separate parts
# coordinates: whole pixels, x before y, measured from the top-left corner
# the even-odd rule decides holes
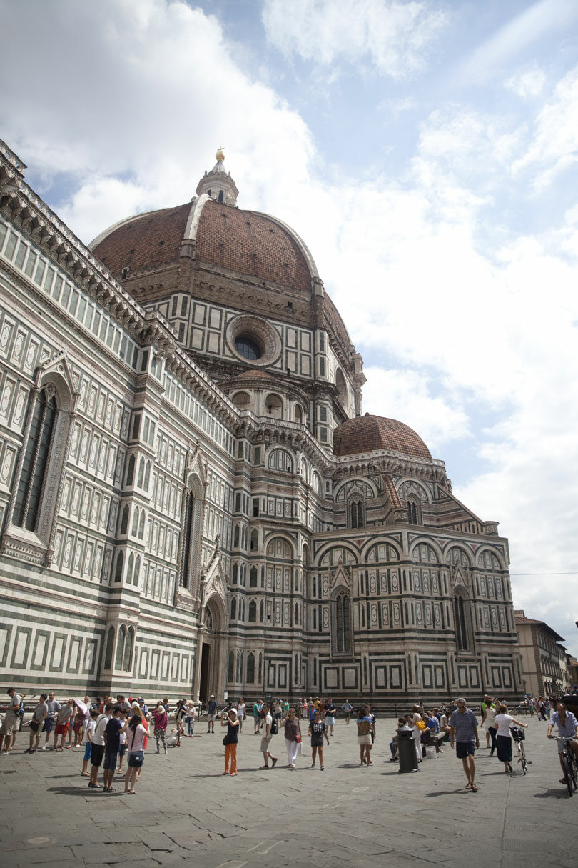
[[[12,513],[12,523],[26,530],[36,530],[38,523],[42,483],[58,417],[55,395],[49,397],[48,391],[41,389],[36,397]]]

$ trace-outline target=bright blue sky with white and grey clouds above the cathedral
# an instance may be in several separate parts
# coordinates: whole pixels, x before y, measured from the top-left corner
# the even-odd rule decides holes
[[[314,256],[363,410],[510,539],[516,608],[578,654],[578,3],[0,0],[0,135],[88,243],[188,201]],[[568,605],[569,601],[569,605]]]

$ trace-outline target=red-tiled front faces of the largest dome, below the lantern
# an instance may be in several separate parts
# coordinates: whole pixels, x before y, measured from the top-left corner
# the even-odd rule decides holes
[[[183,240],[195,240],[195,260],[311,292],[315,265],[298,236],[279,220],[202,196],[185,205],[137,214],[90,245],[114,277],[177,266]]]

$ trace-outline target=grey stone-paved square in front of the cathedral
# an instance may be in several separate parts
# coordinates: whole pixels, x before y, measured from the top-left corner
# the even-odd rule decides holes
[[[478,751],[477,793],[464,790],[462,764],[448,744],[419,773],[400,774],[389,762],[394,719],[378,719],[374,765],[364,768],[357,765],[354,724],[339,720],[324,772],[309,767],[305,745],[295,771],[284,767],[282,734],[274,738],[276,768],[257,771],[259,739],[247,723],[237,778],[222,776],[224,730],[208,735],[197,724],[194,737],[166,756],[149,745],[134,796],[89,790],[80,750],[23,754],[23,731],[15,753],[0,758],[0,864],[578,864],[578,793],[569,798],[558,783],[545,723],[529,720],[526,777],[516,760],[507,775],[484,746]]]

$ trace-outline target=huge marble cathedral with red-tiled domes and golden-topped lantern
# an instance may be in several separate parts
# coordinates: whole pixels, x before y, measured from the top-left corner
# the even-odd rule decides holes
[[[4,678],[519,696],[508,541],[416,431],[362,411],[308,247],[216,160],[85,247],[0,142]]]

